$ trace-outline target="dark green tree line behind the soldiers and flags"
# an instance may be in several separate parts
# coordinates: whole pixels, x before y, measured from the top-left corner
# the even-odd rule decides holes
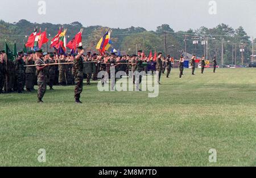
[[[52,23],[31,23],[27,20],[19,20],[19,22],[8,23],[0,21],[0,49],[4,49],[5,39],[10,48],[13,48],[14,40],[18,51],[22,50],[24,43],[27,42],[27,36],[33,32],[34,28],[41,28],[42,31],[47,30],[49,40],[57,34],[59,27],[68,28],[67,40],[71,40],[81,28],[84,28],[82,34],[82,44],[86,50],[96,51],[96,45],[101,36],[104,35],[109,27],[88,26],[83,27],[80,22],[70,24],[52,24]],[[238,27],[234,29],[228,24],[218,24],[214,28],[200,27],[196,30],[189,29],[187,31],[174,31],[169,24],[162,24],[156,27],[156,31],[147,31],[143,27],[129,28],[112,28],[111,40],[113,47],[122,53],[131,55],[136,53],[137,49],[143,49],[148,55],[150,51],[162,51],[164,55],[170,54],[178,59],[181,53],[196,53],[197,56],[208,56],[213,59],[217,56],[218,63],[221,61],[222,45],[224,64],[241,64],[240,46],[245,46],[243,52],[244,64],[251,61],[251,41],[243,29]],[[27,35],[27,36],[26,36]],[[193,44],[197,41],[197,44]],[[205,44],[205,42],[208,44]],[[203,42],[203,45],[202,45]],[[256,43],[256,40],[254,40]],[[186,44],[186,45],[185,45]],[[44,51],[51,51],[47,45],[43,47]]]

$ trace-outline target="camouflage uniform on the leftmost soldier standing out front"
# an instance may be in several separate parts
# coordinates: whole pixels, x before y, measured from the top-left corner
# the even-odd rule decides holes
[[[42,64],[45,64],[45,63],[40,58],[35,61],[36,66],[40,66]],[[47,69],[44,68],[40,71],[36,69],[36,75],[38,76],[38,99],[42,100],[44,94],[46,93],[46,88],[47,88],[47,84],[46,84]]]

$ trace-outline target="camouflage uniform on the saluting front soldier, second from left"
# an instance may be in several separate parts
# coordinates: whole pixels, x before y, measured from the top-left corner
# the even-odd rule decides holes
[[[82,93],[82,81],[83,81],[83,68],[84,68],[84,64],[82,61],[82,57],[80,57],[79,59],[74,59],[73,61],[73,73],[74,73],[74,77],[75,77],[75,99],[79,100],[80,95]]]

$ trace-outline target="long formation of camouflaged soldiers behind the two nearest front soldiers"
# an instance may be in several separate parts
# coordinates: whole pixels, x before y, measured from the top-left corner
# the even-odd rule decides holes
[[[74,55],[65,53],[60,53],[56,55],[55,52],[42,53],[42,60],[44,64],[52,63],[73,63]],[[24,65],[34,65],[36,61],[35,52],[28,51],[27,53],[18,52],[18,57],[14,61],[7,60],[5,51],[0,51],[0,93],[5,92],[24,92],[24,89],[27,92],[34,90],[34,85],[37,85],[37,73],[36,68],[33,67],[24,67]],[[106,71],[109,73],[110,77],[110,68],[115,67],[115,73],[118,71],[125,71],[128,75],[129,72],[142,72],[146,74],[153,74],[155,71],[158,71],[159,82],[160,77],[167,71],[166,77],[170,76],[172,69],[172,63],[174,58],[170,55],[164,57],[161,52],[158,53],[156,61],[153,61],[153,57],[147,57],[142,55],[142,50],[139,50],[137,55],[124,55],[116,56],[115,53],[110,55],[106,53],[105,55],[97,55],[97,53],[91,53],[90,51],[81,55],[83,62],[83,78],[86,79],[86,84],[90,85],[90,80],[98,80],[98,72]],[[193,55],[191,59],[192,74],[195,74],[195,59],[196,56]],[[116,64],[118,63],[118,64]],[[122,64],[124,63],[124,64]],[[180,77],[183,75],[184,69],[184,58],[181,55],[179,60],[179,69]],[[155,68],[149,68],[151,65],[156,64]],[[216,69],[216,57],[213,59],[214,72]],[[204,56],[201,60],[201,73],[204,72],[205,62]],[[75,84],[73,64],[58,64],[58,65],[48,65],[46,70],[46,82],[49,86],[49,89],[53,89],[53,85],[73,85]],[[132,77],[132,76],[129,76]],[[134,84],[136,84],[137,89],[141,83],[142,76],[139,77],[138,81],[135,81],[133,77]],[[102,78],[102,84],[104,81]],[[160,83],[159,83],[160,84]]]

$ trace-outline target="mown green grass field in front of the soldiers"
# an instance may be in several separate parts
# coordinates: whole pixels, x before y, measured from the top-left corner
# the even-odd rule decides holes
[[[0,165],[256,166],[256,69],[185,69],[148,92],[0,94]],[[46,150],[46,163],[38,150]],[[209,163],[209,149],[217,163]]]

